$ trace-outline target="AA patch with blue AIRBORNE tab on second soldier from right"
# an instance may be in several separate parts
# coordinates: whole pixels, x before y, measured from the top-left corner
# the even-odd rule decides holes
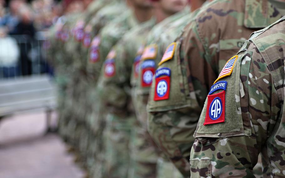
[[[155,91],[154,101],[167,100],[170,90],[170,75],[169,68],[161,68],[155,72]]]

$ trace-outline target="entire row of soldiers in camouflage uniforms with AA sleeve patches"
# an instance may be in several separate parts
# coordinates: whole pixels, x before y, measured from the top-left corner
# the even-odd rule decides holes
[[[259,153],[263,177],[285,176],[283,15],[283,0],[66,14],[48,48],[60,135],[89,177],[254,177]]]

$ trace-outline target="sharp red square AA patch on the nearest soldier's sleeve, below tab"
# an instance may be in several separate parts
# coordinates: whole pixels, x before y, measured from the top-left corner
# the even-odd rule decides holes
[[[225,91],[208,95],[204,125],[225,122]]]

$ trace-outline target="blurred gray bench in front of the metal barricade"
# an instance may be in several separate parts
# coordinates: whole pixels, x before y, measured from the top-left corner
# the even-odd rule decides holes
[[[56,88],[47,75],[0,80],[0,117],[24,111],[44,110],[48,131],[51,112],[56,107]]]

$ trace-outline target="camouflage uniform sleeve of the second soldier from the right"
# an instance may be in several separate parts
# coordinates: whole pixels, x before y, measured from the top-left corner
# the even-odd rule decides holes
[[[168,68],[171,71],[168,99],[154,99],[159,89],[159,77],[153,79],[148,99],[148,130],[185,177],[190,175],[189,157],[194,142],[191,135],[195,131],[211,78],[216,76],[212,63],[205,60],[210,57],[215,59],[215,52],[205,50],[202,38],[204,36],[201,37],[196,22],[187,25],[182,36],[176,40],[174,56],[161,62],[157,70]]]

